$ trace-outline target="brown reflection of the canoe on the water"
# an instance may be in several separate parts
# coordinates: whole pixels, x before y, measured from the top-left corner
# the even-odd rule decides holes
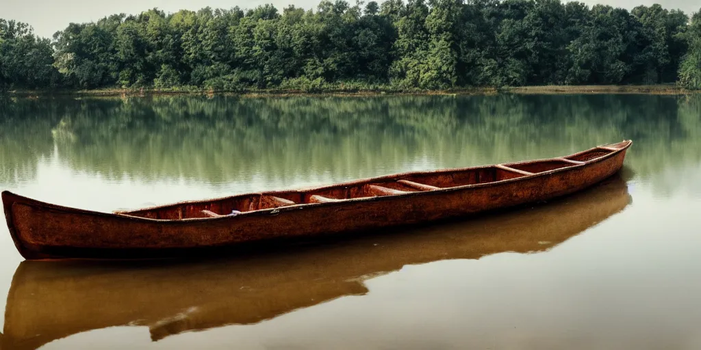
[[[199,262],[24,261],[8,293],[2,349],[36,349],[118,325],[146,325],[157,341],[363,295],[366,279],[404,265],[547,251],[625,209],[632,199],[622,176],[522,210],[275,254]]]

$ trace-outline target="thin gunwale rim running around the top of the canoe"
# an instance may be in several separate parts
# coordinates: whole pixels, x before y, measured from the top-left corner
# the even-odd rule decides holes
[[[618,148],[615,151],[609,150],[604,150],[602,147],[606,146],[611,146],[611,145],[620,145],[624,144],[625,146],[622,146],[621,148]],[[268,208],[268,209],[259,209],[259,210],[254,210],[254,211],[244,211],[236,216],[226,216],[222,215],[219,217],[209,217],[209,218],[182,218],[182,219],[155,219],[155,218],[144,218],[142,216],[134,216],[134,215],[129,215],[127,213],[133,213],[135,211],[151,211],[151,210],[156,210],[156,209],[165,209],[168,207],[177,207],[177,206],[182,206],[182,205],[187,205],[187,204],[200,204],[203,202],[217,202],[217,201],[222,201],[222,200],[230,200],[235,197],[245,197],[245,196],[253,196],[253,195],[276,195],[276,194],[284,194],[284,193],[310,193],[313,191],[318,191],[318,190],[325,190],[329,188],[337,188],[339,186],[355,186],[355,185],[361,185],[361,184],[366,184],[372,181],[383,181],[383,180],[392,180],[396,179],[402,176],[410,176],[410,175],[419,175],[419,174],[439,174],[439,173],[450,173],[450,172],[461,172],[461,171],[468,171],[468,170],[473,170],[473,169],[486,169],[489,167],[495,167],[496,164],[492,165],[479,165],[476,167],[462,167],[462,168],[449,168],[449,169],[440,169],[438,171],[419,171],[419,172],[404,172],[404,173],[397,173],[397,174],[389,174],[389,175],[383,175],[383,176],[376,176],[376,177],[371,177],[371,178],[365,178],[365,179],[357,179],[353,181],[348,181],[344,183],[333,183],[329,185],[324,185],[324,186],[318,186],[318,187],[308,187],[308,188],[301,188],[301,189],[290,189],[290,190],[272,190],[272,191],[264,191],[264,192],[254,192],[254,193],[241,193],[239,195],[230,195],[226,197],[219,197],[219,198],[211,198],[207,200],[191,200],[191,201],[184,201],[184,202],[175,202],[175,203],[170,203],[170,204],[162,204],[156,207],[144,207],[140,209],[133,209],[129,211],[114,211],[112,213],[107,213],[107,212],[102,212],[102,211],[92,211],[88,209],[78,209],[78,208],[72,208],[72,207],[64,207],[58,204],[51,204],[48,202],[41,202],[39,200],[34,200],[29,197],[23,197],[21,195],[16,195],[14,193],[11,193],[9,191],[3,191],[2,197],[3,200],[7,195],[10,195],[12,197],[17,197],[20,198],[20,201],[13,201],[11,203],[11,206],[14,204],[21,204],[21,205],[28,205],[32,207],[43,207],[45,209],[51,209],[53,211],[60,211],[60,212],[72,212],[75,214],[85,214],[85,215],[91,215],[91,216],[102,216],[102,217],[111,217],[111,218],[123,218],[126,220],[130,221],[140,221],[144,223],[161,223],[161,224],[168,224],[168,225],[185,225],[185,224],[191,224],[191,223],[212,223],[214,221],[225,221],[225,220],[238,220],[241,217],[255,217],[255,216],[268,216],[268,215],[278,215],[283,212],[287,211],[294,211],[297,209],[304,209],[308,207],[322,207],[322,206],[339,206],[343,204],[355,204],[358,202],[372,202],[372,201],[383,201],[383,200],[395,200],[397,198],[406,198],[409,196],[415,196],[415,195],[435,195],[435,194],[442,194],[442,193],[451,193],[451,192],[456,192],[459,190],[469,190],[469,189],[475,189],[475,188],[489,188],[492,186],[501,186],[505,183],[512,183],[516,181],[525,181],[529,179],[535,179],[540,176],[548,176],[551,174],[559,173],[559,172],[569,172],[574,169],[580,169],[583,167],[587,167],[589,165],[596,164],[598,162],[603,162],[604,160],[607,160],[608,158],[612,158],[613,156],[617,155],[618,153],[621,153],[627,148],[629,148],[632,145],[632,140],[623,140],[621,142],[615,143],[615,144],[604,144],[604,145],[599,145],[595,146],[592,148],[589,148],[585,151],[580,151],[578,153],[573,153],[571,155],[564,155],[562,157],[554,157],[554,158],[541,158],[541,159],[534,159],[534,160],[522,160],[518,162],[508,162],[508,163],[500,163],[499,165],[504,165],[506,167],[510,165],[524,165],[524,164],[531,164],[531,163],[536,163],[536,162],[547,162],[547,161],[554,161],[554,162],[566,162],[562,160],[562,158],[572,158],[576,157],[577,155],[583,155],[588,152],[596,151],[597,149],[602,149],[604,151],[609,151],[609,153],[605,155],[601,155],[597,158],[592,158],[590,160],[587,160],[586,162],[583,162],[582,164],[571,164],[565,167],[559,167],[557,169],[551,169],[547,170],[545,172],[539,172],[539,173],[533,173],[531,175],[524,175],[524,176],[519,176],[516,178],[512,179],[504,179],[500,181],[491,181],[491,182],[485,182],[485,183],[473,183],[473,184],[468,184],[468,185],[463,185],[463,186],[454,186],[454,187],[449,187],[449,188],[438,188],[436,190],[425,190],[425,191],[414,191],[414,192],[407,192],[407,193],[402,193],[402,194],[397,194],[397,195],[386,195],[386,196],[372,196],[372,197],[355,197],[355,198],[347,198],[347,199],[342,199],[342,200],[336,200],[334,202],[322,202],[322,203],[299,203],[299,204],[294,204],[294,205],[289,205],[285,207],[277,207],[277,208]],[[8,226],[11,230],[11,234],[14,236],[13,232],[13,218],[11,218],[11,207],[5,204],[5,209],[6,209],[6,220],[8,221]]]

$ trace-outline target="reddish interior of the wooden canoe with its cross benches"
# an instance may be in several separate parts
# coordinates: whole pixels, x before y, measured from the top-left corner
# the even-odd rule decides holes
[[[627,146],[626,141],[611,146],[599,146],[563,158],[512,162],[465,169],[447,169],[440,172],[417,172],[383,176],[312,190],[249,193],[218,200],[184,202],[136,211],[121,211],[118,214],[157,220],[220,218],[236,216],[250,211],[290,207],[299,204],[330,203],[369,197],[403,195],[517,179],[523,176],[549,172],[554,169],[575,167],[619,151],[625,146]]]

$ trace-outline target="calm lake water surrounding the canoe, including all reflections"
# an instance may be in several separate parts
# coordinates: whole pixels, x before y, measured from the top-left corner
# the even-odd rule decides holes
[[[263,255],[22,262],[3,217],[0,348],[700,349],[701,97],[0,99],[0,190],[99,211],[623,139],[583,193]]]

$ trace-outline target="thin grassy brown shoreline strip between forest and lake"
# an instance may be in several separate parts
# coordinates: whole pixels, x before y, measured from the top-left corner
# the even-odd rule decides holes
[[[95,90],[11,90],[10,97],[39,98],[69,97],[147,97],[147,96],[238,96],[238,97],[376,97],[397,95],[458,96],[495,94],[651,94],[686,95],[701,91],[686,90],[676,85],[537,85],[521,87],[473,87],[452,90],[395,90],[391,87],[376,90],[333,90],[306,92],[303,90],[249,90],[244,92],[178,89],[95,89]],[[1,94],[0,94],[1,96]]]

